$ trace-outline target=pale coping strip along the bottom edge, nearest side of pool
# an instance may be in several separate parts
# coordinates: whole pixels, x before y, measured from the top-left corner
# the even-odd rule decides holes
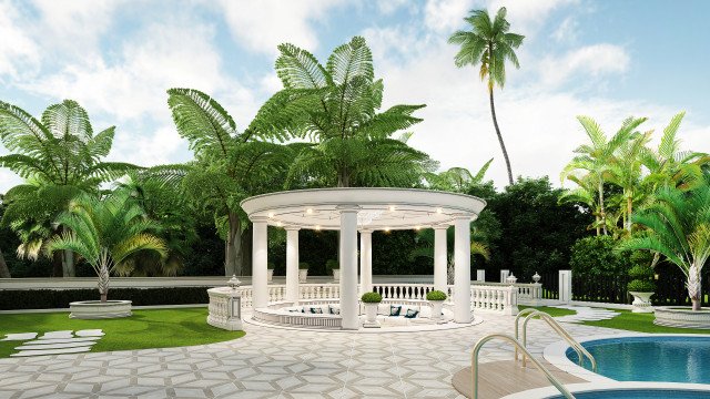
[[[683,335],[683,334],[679,334]],[[687,383],[687,382],[650,382],[650,381],[595,381],[581,383],[568,383],[565,386],[571,393],[584,393],[607,390],[680,390],[710,392],[710,383]],[[555,387],[545,387],[526,390],[503,397],[501,399],[546,399],[559,396],[560,392]]]

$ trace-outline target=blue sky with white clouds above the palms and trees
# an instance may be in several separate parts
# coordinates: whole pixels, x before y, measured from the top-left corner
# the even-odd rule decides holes
[[[244,129],[281,89],[276,47],[291,42],[323,63],[354,35],[373,50],[384,109],[426,104],[409,144],[440,168],[477,171],[507,184],[478,71],[454,65],[448,37],[471,9],[508,10],[524,34],[520,69],[496,91],[515,176],[559,173],[586,140],[588,115],[611,134],[647,116],[658,142],[686,111],[679,137],[710,152],[710,1],[686,0],[0,0],[0,100],[36,116],[64,99],[89,112],[94,132],[116,126],[109,160],[151,166],[192,158],[165,91],[199,89]],[[0,154],[7,154],[0,145]],[[0,193],[20,183],[0,168]]]

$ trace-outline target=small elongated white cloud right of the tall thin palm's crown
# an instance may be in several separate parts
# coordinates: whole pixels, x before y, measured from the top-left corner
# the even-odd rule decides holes
[[[556,86],[576,74],[598,78],[623,73],[629,64],[630,58],[622,47],[600,43],[571,50],[560,58],[548,57],[540,61],[538,68],[542,81]]]

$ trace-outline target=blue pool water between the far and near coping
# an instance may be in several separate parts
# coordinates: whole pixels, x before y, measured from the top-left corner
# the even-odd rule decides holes
[[[710,383],[710,337],[625,337],[587,341],[582,346],[597,360],[597,372],[617,381]],[[567,350],[567,358],[578,364],[571,348]],[[585,367],[591,369],[588,361]],[[708,398],[708,392],[704,395]],[[623,396],[637,397],[648,396]]]

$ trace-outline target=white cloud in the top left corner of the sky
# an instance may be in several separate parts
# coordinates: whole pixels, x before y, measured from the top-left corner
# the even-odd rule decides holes
[[[19,20],[20,12],[12,3],[0,2],[0,76],[17,79],[23,70],[39,66],[40,50]]]

